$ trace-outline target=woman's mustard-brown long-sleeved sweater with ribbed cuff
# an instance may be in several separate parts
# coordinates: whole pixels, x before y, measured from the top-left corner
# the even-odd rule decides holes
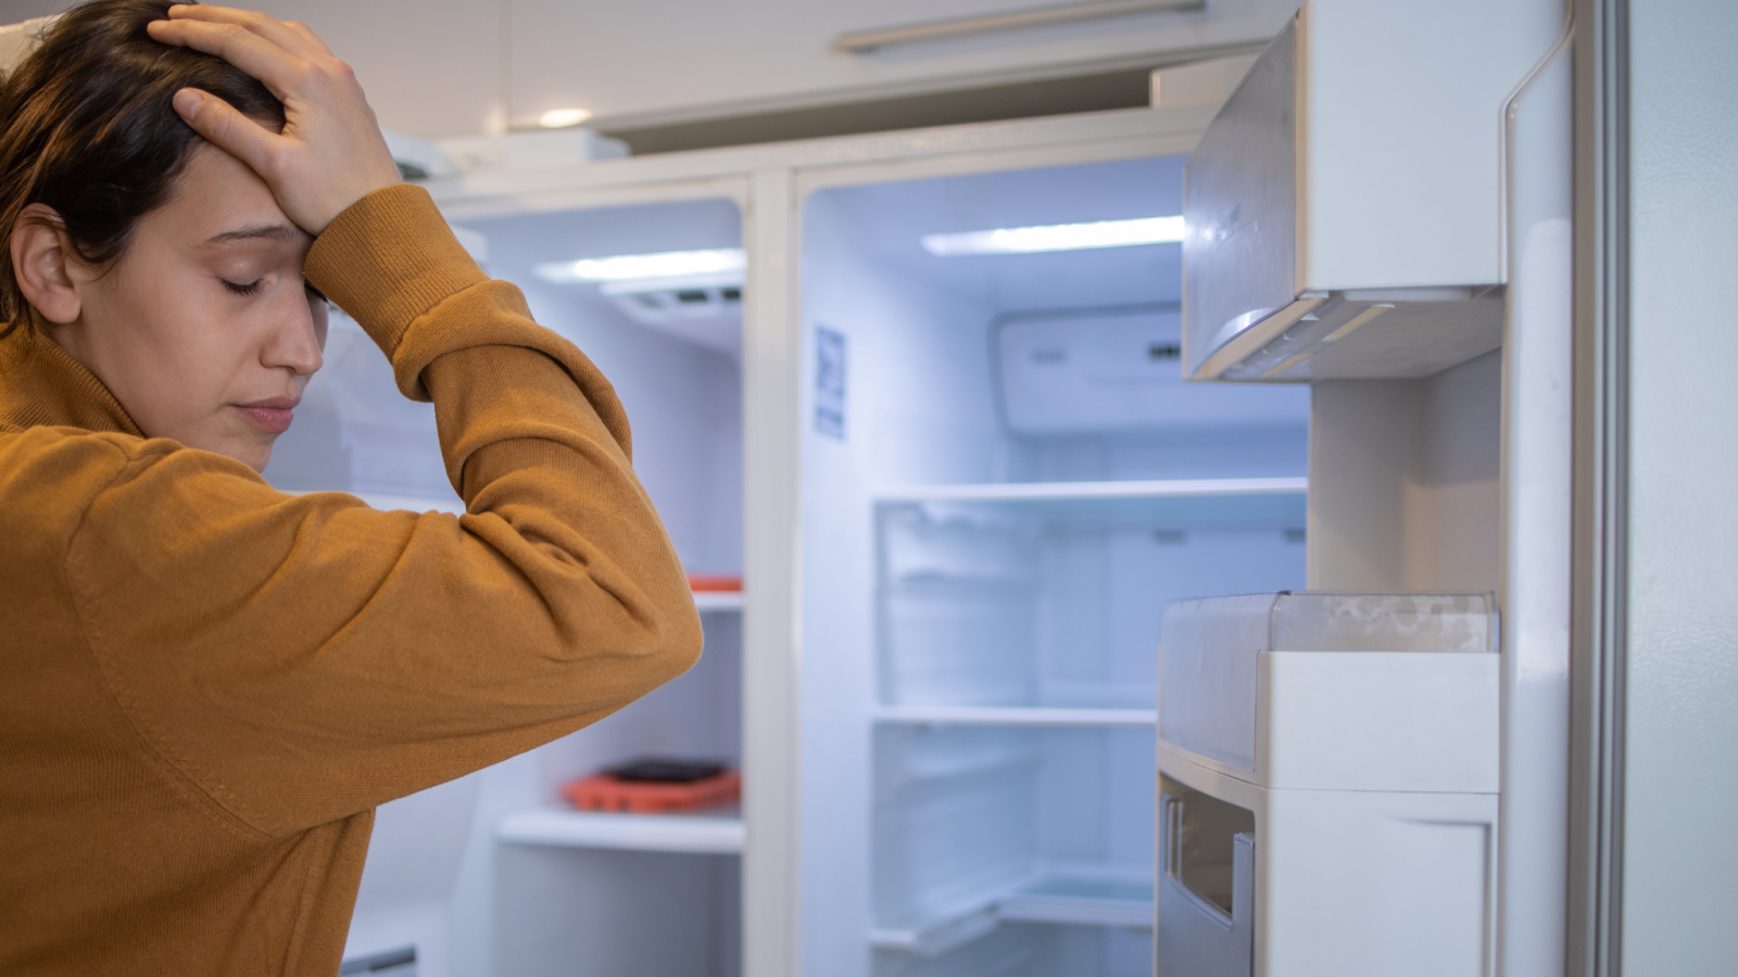
[[[428,193],[308,278],[431,398],[468,515],[285,495],[0,342],[0,974],[337,974],[374,807],[690,668],[700,624],[608,381]]]

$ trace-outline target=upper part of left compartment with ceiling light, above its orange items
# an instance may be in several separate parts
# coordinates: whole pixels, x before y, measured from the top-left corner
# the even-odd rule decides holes
[[[539,325],[570,339],[608,377],[633,419],[634,473],[683,565],[740,574],[740,315],[647,322],[622,304],[624,287],[681,282],[667,271],[680,271],[683,256],[740,261],[737,203],[474,217],[457,229],[485,242],[487,271],[525,294]],[[575,263],[584,269],[575,273]],[[634,276],[624,278],[627,271]],[[264,475],[290,492],[356,492],[384,508],[464,511],[440,454],[434,407],[398,391],[391,363],[342,313],[332,315],[325,367]]]

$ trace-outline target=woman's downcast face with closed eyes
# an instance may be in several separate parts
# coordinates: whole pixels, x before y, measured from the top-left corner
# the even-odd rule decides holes
[[[254,170],[202,144],[115,264],[70,261],[78,316],[49,329],[148,436],[264,471],[325,348],[311,245]]]

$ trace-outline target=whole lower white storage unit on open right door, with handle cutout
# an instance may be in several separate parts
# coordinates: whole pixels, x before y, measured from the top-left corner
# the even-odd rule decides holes
[[[1185,600],[1159,654],[1159,977],[1493,965],[1489,595]]]

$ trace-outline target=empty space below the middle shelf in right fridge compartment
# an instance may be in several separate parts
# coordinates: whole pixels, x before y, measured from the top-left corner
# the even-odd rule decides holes
[[[1152,921],[1145,728],[885,725],[871,942],[939,956],[1010,921]]]

